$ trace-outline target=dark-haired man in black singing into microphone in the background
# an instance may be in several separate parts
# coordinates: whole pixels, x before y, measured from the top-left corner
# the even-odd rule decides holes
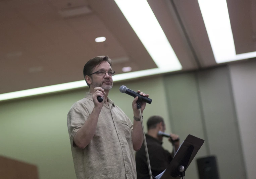
[[[161,116],[151,116],[147,121],[148,133],[146,135],[150,166],[153,176],[162,173],[169,165],[173,154],[162,147],[163,136],[158,135],[159,131],[165,132],[164,120]],[[170,134],[169,141],[175,151],[180,146],[179,136]],[[175,142],[174,142],[175,141]],[[149,179],[148,163],[144,143],[135,155],[137,179]]]

